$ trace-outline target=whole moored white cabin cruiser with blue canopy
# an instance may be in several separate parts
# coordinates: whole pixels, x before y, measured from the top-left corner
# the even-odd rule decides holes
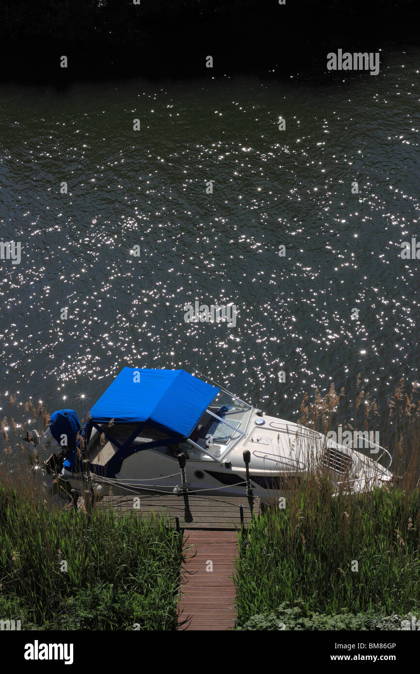
[[[272,500],[311,470],[327,470],[337,491],[356,492],[392,477],[389,452],[369,444],[364,454],[265,415],[182,369],[124,367],[90,410],[60,477],[77,494],[251,490]]]

